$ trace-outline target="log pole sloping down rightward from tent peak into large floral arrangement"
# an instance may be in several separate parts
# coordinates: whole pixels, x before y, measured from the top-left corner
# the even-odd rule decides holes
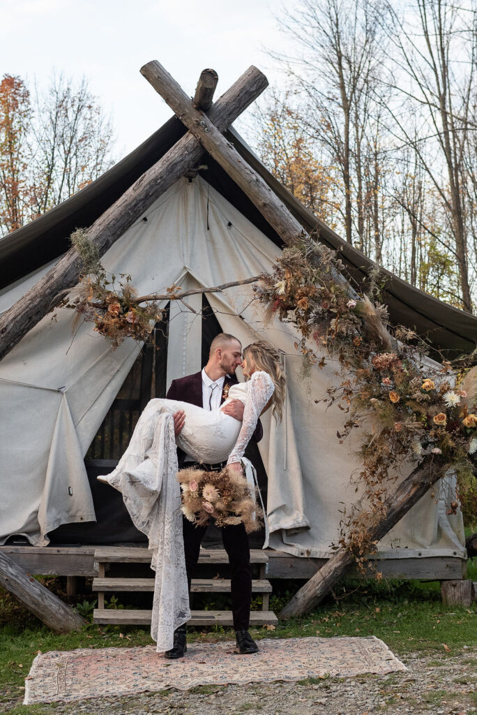
[[[309,238],[301,223],[281,202],[275,192],[257,174],[255,169],[242,159],[235,147],[214,126],[213,117],[206,117],[194,107],[174,77],[171,77],[158,61],[148,62],[141,67],[141,74],[169,104],[169,107],[173,109],[181,122],[184,122],[189,131],[199,139],[211,157],[219,162],[229,177],[248,196],[261,215],[276,230],[285,245],[291,246],[298,240]],[[333,272],[333,277],[336,282],[346,286],[350,297],[358,298],[358,294],[343,275]]]

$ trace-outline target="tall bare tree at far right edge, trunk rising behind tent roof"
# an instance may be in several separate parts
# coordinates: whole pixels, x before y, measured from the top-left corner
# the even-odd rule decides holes
[[[464,174],[469,132],[476,128],[470,114],[476,81],[475,12],[443,0],[414,0],[405,19],[390,3],[388,14],[386,29],[396,63],[389,86],[402,100],[388,106],[392,130],[412,147],[441,199],[456,252],[462,307],[471,312]],[[413,116],[420,120],[418,136],[409,131]]]

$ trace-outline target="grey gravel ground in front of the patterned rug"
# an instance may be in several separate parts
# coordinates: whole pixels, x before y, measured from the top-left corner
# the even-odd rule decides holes
[[[200,686],[189,691],[167,690],[122,698],[36,706],[34,711],[59,715],[219,715],[231,712],[261,715],[366,715],[376,712],[387,715],[477,714],[477,649],[464,646],[459,653],[409,653],[401,656],[401,661],[408,668],[407,673],[313,679],[299,683]]]

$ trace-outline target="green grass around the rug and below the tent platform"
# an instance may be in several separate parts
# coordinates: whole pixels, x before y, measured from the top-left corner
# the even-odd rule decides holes
[[[477,581],[477,559],[468,563],[468,577]],[[54,586],[54,582],[49,583]],[[273,583],[272,605],[276,611],[290,598],[296,582]],[[436,653],[436,664],[446,656],[461,652],[463,646],[477,644],[477,604],[471,608],[446,608],[441,603],[439,584],[418,581],[348,581],[319,608],[303,618],[280,622],[276,628],[251,628],[253,638],[291,638],[320,636],[376,636],[396,654],[426,651]],[[89,596],[93,600],[91,594]],[[84,596],[77,599],[80,603]],[[190,629],[189,641],[221,641],[233,638],[231,629],[211,626]],[[11,715],[46,715],[54,706],[19,705],[24,679],[38,651],[144,646],[151,644],[149,628],[134,626],[95,626],[85,624],[81,631],[56,635],[8,593],[0,592],[0,711],[2,703],[18,704]],[[444,649],[444,644],[450,651]],[[476,659],[467,659],[476,664]]]

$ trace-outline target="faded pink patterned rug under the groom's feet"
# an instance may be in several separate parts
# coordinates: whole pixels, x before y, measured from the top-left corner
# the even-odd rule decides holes
[[[405,671],[378,638],[268,638],[249,656],[232,642],[190,644],[169,661],[155,646],[51,651],[36,656],[26,679],[24,704],[122,696],[196,685],[297,681]]]

